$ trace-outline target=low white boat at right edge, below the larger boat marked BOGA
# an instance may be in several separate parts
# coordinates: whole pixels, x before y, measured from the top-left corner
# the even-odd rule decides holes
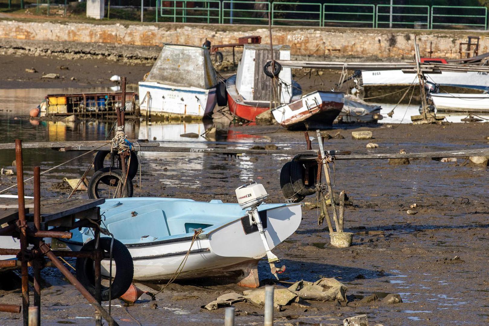
[[[489,112],[489,94],[430,93],[435,108],[447,112]]]

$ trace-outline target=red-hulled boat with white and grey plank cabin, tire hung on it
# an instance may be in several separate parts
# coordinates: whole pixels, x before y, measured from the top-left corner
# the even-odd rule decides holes
[[[290,46],[273,46],[273,57],[276,60],[290,60]],[[237,73],[226,80],[227,101],[233,115],[254,122],[258,114],[270,109],[272,79],[263,70],[269,60],[268,45],[244,44]],[[290,68],[282,68],[278,80],[281,103],[288,104],[301,98],[302,89],[292,80]]]

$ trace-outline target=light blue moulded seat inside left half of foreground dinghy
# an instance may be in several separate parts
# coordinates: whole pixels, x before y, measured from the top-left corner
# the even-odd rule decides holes
[[[138,214],[107,225],[112,234],[118,239],[139,239],[143,236],[148,238],[160,238],[170,236],[170,229],[162,210]]]

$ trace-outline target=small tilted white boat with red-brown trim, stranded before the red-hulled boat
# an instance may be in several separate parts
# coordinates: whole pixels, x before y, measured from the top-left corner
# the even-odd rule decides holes
[[[288,129],[331,127],[343,108],[344,93],[314,91],[271,110],[275,120]]]

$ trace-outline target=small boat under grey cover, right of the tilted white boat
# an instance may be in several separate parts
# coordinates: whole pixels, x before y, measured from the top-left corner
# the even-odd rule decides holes
[[[381,109],[382,107],[379,105],[370,105],[355,95],[346,94],[345,105],[336,121],[338,123],[377,122],[383,118],[380,114]]]

